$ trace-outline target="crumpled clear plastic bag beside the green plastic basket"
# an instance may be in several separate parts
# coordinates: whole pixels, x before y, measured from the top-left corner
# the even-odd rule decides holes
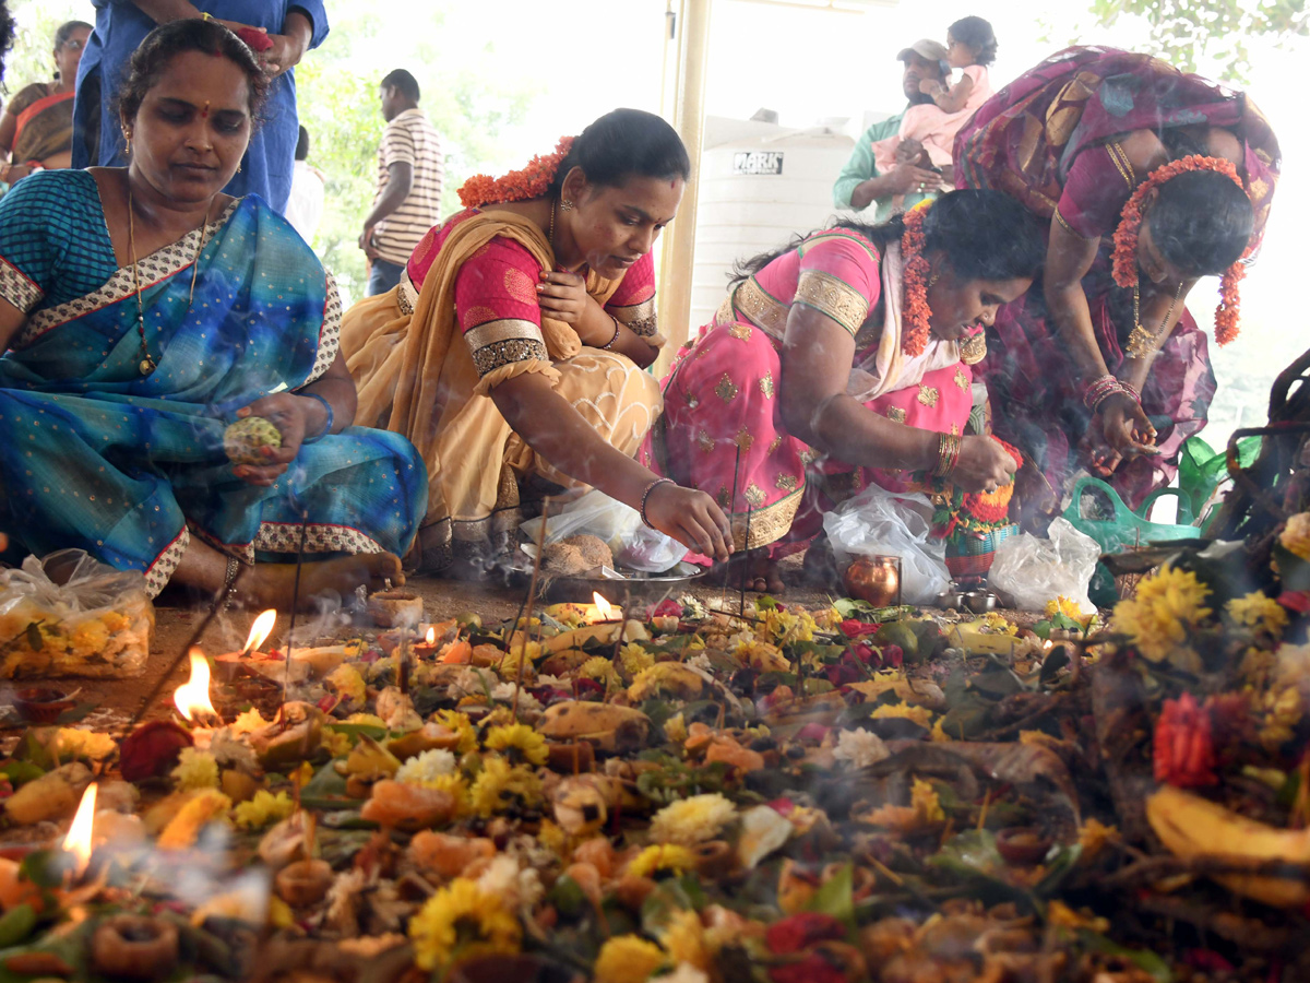
[[[1082,613],[1096,607],[1087,586],[1100,560],[1096,540],[1074,528],[1064,516],[1051,523],[1051,539],[1022,532],[1002,540],[989,577],[992,586],[1007,594],[1020,611],[1041,611],[1048,600],[1064,595],[1078,603]]]

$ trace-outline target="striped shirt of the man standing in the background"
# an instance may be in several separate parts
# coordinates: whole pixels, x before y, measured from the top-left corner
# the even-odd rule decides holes
[[[427,231],[441,222],[441,140],[423,110],[406,109],[383,131],[383,143],[377,148],[375,206],[386,191],[392,164],[409,164],[414,181],[401,207],[373,227],[373,241],[383,260],[403,265]]]

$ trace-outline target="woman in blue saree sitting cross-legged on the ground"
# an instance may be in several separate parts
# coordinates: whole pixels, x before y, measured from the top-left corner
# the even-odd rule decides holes
[[[220,191],[266,80],[225,28],[151,33],[121,93],[127,168],[34,174],[0,201],[0,528],[250,604],[400,582],[427,474],[350,426],[331,278],[262,199]],[[223,433],[282,435],[233,467]],[[267,562],[255,562],[267,561]],[[282,562],[275,562],[279,560]]]

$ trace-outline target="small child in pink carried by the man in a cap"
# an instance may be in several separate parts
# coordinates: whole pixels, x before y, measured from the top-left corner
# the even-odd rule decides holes
[[[896,166],[896,148],[907,139],[924,144],[933,166],[945,168],[951,163],[955,134],[992,97],[986,66],[996,60],[996,47],[992,25],[981,17],[962,17],[950,26],[946,33],[947,58],[951,68],[960,69],[960,80],[950,89],[935,79],[920,83],[920,92],[931,96],[933,101],[907,109],[900,132],[874,143],[874,164],[879,173]],[[925,166],[922,160],[918,165]]]

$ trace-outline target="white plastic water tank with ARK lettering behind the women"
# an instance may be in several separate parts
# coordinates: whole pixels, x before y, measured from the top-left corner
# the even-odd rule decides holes
[[[738,260],[776,249],[798,232],[827,225],[832,185],[854,142],[832,126],[707,117],[696,222],[690,336],[723,303]]]

